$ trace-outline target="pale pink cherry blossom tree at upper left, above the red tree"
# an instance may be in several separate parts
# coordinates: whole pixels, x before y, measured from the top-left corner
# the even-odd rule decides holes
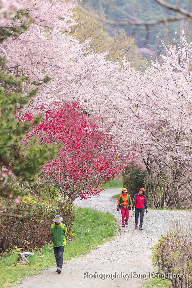
[[[87,55],[89,41],[80,44],[67,35],[66,30],[74,24],[74,20],[70,20],[70,8],[75,1],[54,1],[50,7],[49,1],[44,0],[46,13],[43,12],[44,6],[39,7],[41,4],[35,4],[34,9],[33,1],[24,3],[33,23],[20,37],[9,37],[4,41],[0,45],[0,56],[6,58],[11,73],[25,76],[26,90],[39,87],[35,103],[32,100],[26,110],[35,109],[37,101],[51,104],[63,99],[87,98],[90,94],[89,101],[92,99],[92,102],[89,105],[94,105],[102,98],[102,89],[108,94],[109,89],[115,89],[119,66],[104,59],[107,52]],[[63,19],[62,13],[68,17]]]

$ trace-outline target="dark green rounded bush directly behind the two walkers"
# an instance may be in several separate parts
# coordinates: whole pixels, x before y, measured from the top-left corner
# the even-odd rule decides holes
[[[126,170],[122,173],[123,187],[127,188],[128,194],[131,198],[137,193],[137,188],[144,187],[145,171],[138,168],[127,166]]]

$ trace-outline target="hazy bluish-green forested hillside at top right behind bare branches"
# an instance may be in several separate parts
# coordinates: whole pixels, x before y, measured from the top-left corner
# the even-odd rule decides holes
[[[130,20],[125,15],[114,10],[114,8],[110,5],[105,5],[101,1],[83,0],[83,3],[87,5],[90,9],[104,9],[107,19],[116,21]],[[172,5],[177,5],[178,1],[170,0],[169,3]],[[157,17],[159,19],[164,19],[166,17],[176,15],[173,11],[162,7],[154,0],[115,0],[113,1],[113,4],[121,11],[128,12],[130,15],[140,20],[156,20]],[[180,0],[179,6],[188,11],[191,11],[191,1],[189,0]],[[155,50],[156,47],[159,48],[159,39],[165,39],[170,44],[175,42],[179,43],[179,32],[181,32],[180,29],[182,29],[182,26],[185,31],[191,30],[191,23],[187,21],[184,22],[183,25],[182,23],[178,22],[170,22],[166,23],[166,25],[153,25],[149,28],[149,31],[141,25],[123,26],[123,28],[125,29],[127,35],[137,37],[139,47],[152,48]],[[112,31],[113,27],[109,26],[108,29]],[[116,27],[116,29],[121,29],[121,26]],[[178,31],[178,34],[175,34],[175,31]],[[157,39],[156,37],[158,37],[159,39]],[[189,41],[191,41],[191,33],[189,33]]]

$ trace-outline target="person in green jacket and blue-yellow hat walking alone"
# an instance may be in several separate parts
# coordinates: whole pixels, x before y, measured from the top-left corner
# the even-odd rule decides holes
[[[53,236],[52,246],[57,263],[56,272],[61,273],[61,268],[63,265],[63,252],[66,245],[67,228],[65,224],[61,223],[63,218],[60,215],[56,215],[53,221],[55,223],[51,225],[50,229]]]

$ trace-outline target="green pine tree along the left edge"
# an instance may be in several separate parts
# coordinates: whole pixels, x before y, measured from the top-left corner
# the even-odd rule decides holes
[[[9,29],[0,27],[0,41],[7,37],[18,37],[24,33],[32,22],[30,15],[18,12],[14,20],[25,16],[20,26],[14,24]],[[26,20],[27,18],[27,20]],[[10,198],[23,194],[22,188],[13,185],[13,179],[33,183],[35,175],[41,172],[41,166],[57,154],[57,146],[38,145],[37,139],[22,143],[24,135],[40,122],[41,117],[31,121],[20,121],[16,115],[38,92],[38,87],[23,92],[24,77],[14,77],[6,67],[6,60],[0,58],[0,197]],[[46,81],[46,79],[45,79]],[[17,181],[16,181],[17,182]]]

